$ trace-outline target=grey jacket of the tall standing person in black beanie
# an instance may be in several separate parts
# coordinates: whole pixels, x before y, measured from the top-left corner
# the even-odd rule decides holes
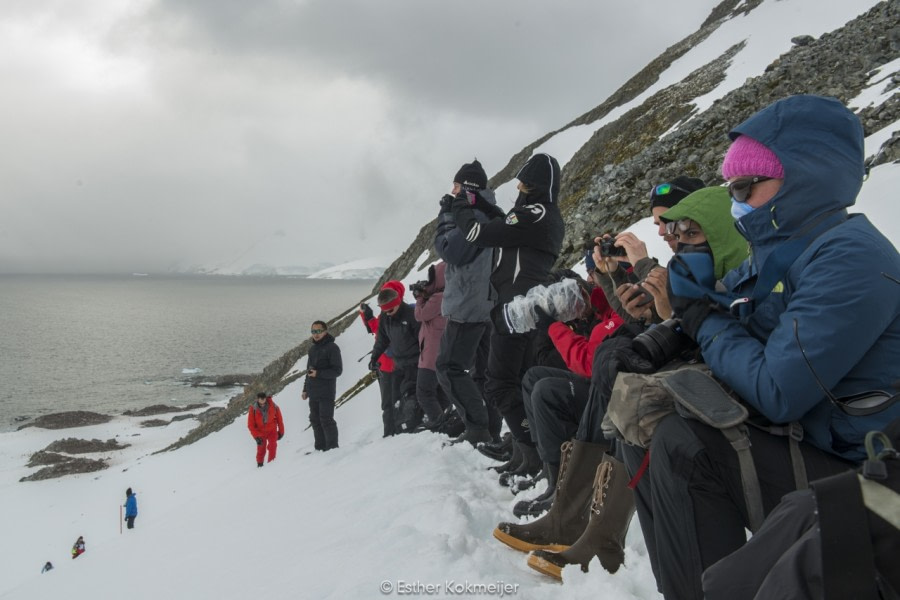
[[[493,190],[479,190],[477,194],[487,204],[496,206]],[[479,210],[478,205],[474,212],[479,222],[484,223],[490,219],[489,215]],[[447,263],[441,314],[458,323],[487,321],[495,297],[491,288],[491,249],[468,243],[463,232],[456,226],[453,213],[441,211],[438,215],[434,250]]]

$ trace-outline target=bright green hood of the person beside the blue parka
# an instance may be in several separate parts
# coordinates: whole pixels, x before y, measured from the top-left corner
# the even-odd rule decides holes
[[[712,249],[716,279],[737,268],[750,254],[747,240],[734,226],[731,216],[731,196],[728,189],[715,186],[703,188],[664,212],[663,221],[690,219],[703,228]]]

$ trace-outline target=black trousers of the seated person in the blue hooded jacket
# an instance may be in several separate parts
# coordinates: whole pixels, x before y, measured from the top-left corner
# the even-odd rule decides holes
[[[795,488],[788,438],[750,427],[750,442],[768,514]],[[810,481],[853,468],[809,444],[801,442],[800,450]],[[634,474],[643,450],[629,446],[624,454]],[[746,543],[750,520],[737,454],[719,430],[672,414],[653,434],[638,487],[635,503],[659,590],[670,600],[703,598],[703,570]]]

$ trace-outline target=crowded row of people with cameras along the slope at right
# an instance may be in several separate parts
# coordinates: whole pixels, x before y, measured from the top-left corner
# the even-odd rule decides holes
[[[556,160],[526,162],[505,214],[474,161],[440,202],[442,261],[425,301],[443,283],[444,322],[423,336],[436,313],[420,296],[404,304],[397,281],[378,294],[380,315],[361,307],[375,334],[370,368],[380,382],[396,377],[381,386],[385,435],[397,408],[441,418],[428,391],[436,380],[465,426],[456,441],[499,456],[498,416],[506,423],[501,483],[548,480],[514,511],[542,516],[494,531],[541,573],[561,579],[566,565],[587,569],[594,557],[615,572],[637,512],[666,598],[763,597],[779,585],[820,597],[821,549],[793,542],[821,533],[822,482],[868,458],[888,465],[882,487],[894,495],[882,497],[894,512],[900,503],[900,461],[887,447],[900,429],[900,255],[847,211],[864,180],[862,125],[836,99],[801,95],[729,137],[725,185],[681,175],[651,191],[650,213],[675,253],[667,266],[619,233],[593,241],[587,281],[553,273],[565,229]],[[536,303],[534,326],[514,327],[513,300],[559,277],[579,279],[578,317],[561,322],[559,306]],[[419,357],[435,348],[420,376]],[[880,454],[865,447],[873,430],[889,434]],[[790,510],[776,508],[786,495]],[[778,524],[797,510],[802,527]],[[900,589],[894,527],[876,544],[880,590]],[[780,534],[780,550],[760,558],[746,529]],[[766,568],[746,568],[754,551]]]

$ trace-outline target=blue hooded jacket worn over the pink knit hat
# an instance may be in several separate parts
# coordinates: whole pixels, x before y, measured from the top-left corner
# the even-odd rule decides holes
[[[725,287],[749,294],[775,249],[792,237],[812,240],[749,315],[714,312],[697,342],[713,373],[763,416],[799,421],[809,443],[861,460],[867,430],[900,417],[900,403],[874,417],[848,416],[816,383],[797,338],[834,396],[897,393],[900,285],[885,275],[900,279],[900,255],[864,215],[846,212],[862,187],[862,125],[834,98],[801,95],[729,133],[739,135],[772,150],[785,176],[769,202],[737,221],[751,254]]]

